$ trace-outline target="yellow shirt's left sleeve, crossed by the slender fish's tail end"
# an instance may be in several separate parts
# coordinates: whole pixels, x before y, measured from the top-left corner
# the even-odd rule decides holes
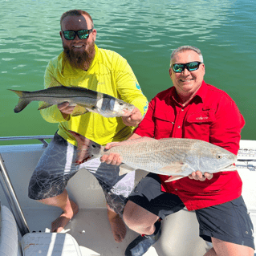
[[[44,75],[44,88],[59,86],[60,83],[54,77],[54,65],[51,63],[48,64],[47,69]],[[43,102],[39,102],[39,107],[41,107]],[[41,116],[43,119],[49,123],[61,123],[67,121],[63,118],[63,115],[59,111],[57,105],[53,105],[49,108],[44,108],[40,110]]]

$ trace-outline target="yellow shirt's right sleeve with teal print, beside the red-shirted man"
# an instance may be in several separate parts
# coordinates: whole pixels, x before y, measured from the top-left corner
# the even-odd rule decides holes
[[[121,100],[133,104],[144,116],[148,110],[148,100],[126,59],[119,56],[116,62],[116,88]]]

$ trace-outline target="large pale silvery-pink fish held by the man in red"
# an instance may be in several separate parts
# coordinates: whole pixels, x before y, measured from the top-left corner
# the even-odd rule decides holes
[[[109,150],[100,144],[91,143],[89,157],[95,158],[118,153],[123,157],[120,175],[136,169],[178,178],[189,176],[194,171],[217,173],[235,171],[237,156],[225,148],[203,140],[169,138],[156,140],[142,137],[116,143]],[[169,179],[173,181],[178,178]]]

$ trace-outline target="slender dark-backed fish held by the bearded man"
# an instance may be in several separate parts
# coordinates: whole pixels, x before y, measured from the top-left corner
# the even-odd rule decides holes
[[[49,87],[40,91],[14,91],[19,96],[14,112],[21,112],[31,101],[43,101],[40,109],[49,108],[55,104],[68,102],[75,106],[71,116],[80,116],[86,112],[95,112],[104,117],[129,116],[135,108],[123,100],[83,87]]]

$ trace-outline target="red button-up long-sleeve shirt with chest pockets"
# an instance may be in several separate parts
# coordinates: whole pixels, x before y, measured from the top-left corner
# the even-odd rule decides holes
[[[174,87],[157,94],[135,133],[156,139],[205,140],[234,154],[238,153],[245,121],[234,100],[225,91],[203,81],[197,94],[185,107],[176,99]],[[159,177],[163,191],[177,194],[189,210],[231,201],[242,193],[242,180],[237,171],[214,173],[213,178],[206,181],[185,177],[165,182],[168,176]]]

